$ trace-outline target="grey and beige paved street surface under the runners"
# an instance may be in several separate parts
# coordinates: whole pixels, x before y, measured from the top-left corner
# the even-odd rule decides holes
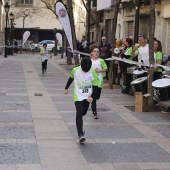
[[[71,68],[56,56],[42,75],[38,54],[0,56],[0,170],[170,170],[170,114],[134,112],[119,88],[102,90],[79,144]]]

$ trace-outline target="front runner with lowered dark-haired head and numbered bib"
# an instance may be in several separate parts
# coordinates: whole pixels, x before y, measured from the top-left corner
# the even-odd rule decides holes
[[[90,58],[83,58],[81,66],[75,67],[65,87],[65,94],[74,80],[74,101],[76,107],[76,126],[79,142],[86,140],[83,131],[83,116],[86,115],[89,104],[93,101],[98,89],[99,79],[96,72],[91,68]]]

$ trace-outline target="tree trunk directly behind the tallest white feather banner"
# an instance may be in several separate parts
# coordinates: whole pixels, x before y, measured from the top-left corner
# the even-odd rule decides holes
[[[70,24],[71,24],[72,37],[73,37],[73,48],[74,50],[77,50],[77,39],[76,39],[75,25],[74,25],[74,18],[73,18],[72,0],[67,0],[67,4],[69,8],[69,17],[70,17]],[[78,65],[79,64],[78,55],[74,55],[73,58],[75,60],[75,65]]]

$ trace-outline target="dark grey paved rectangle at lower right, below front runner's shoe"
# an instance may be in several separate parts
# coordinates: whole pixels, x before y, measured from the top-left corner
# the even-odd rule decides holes
[[[170,154],[154,143],[92,143],[79,145],[79,148],[88,163],[161,163],[170,161]]]

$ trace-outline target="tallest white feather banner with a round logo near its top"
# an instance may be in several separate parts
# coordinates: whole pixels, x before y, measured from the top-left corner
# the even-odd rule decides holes
[[[62,2],[56,2],[55,11],[58,15],[59,21],[64,29],[67,40],[69,42],[71,51],[73,52],[73,40],[72,40],[72,32],[70,25],[70,18],[68,16],[67,10]]]

